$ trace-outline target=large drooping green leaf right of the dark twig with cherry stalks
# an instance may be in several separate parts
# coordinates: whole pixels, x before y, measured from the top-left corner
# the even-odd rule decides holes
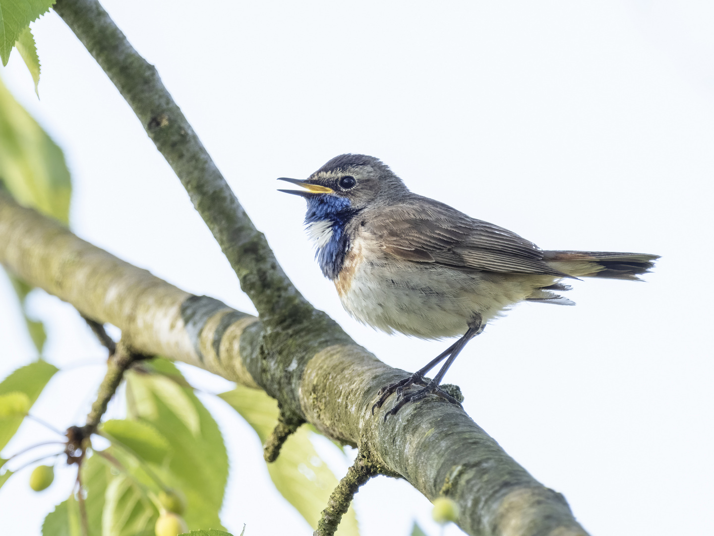
[[[129,416],[151,425],[169,445],[164,464],[151,465],[151,470],[186,496],[183,518],[189,528],[222,528],[218,512],[228,480],[228,454],[218,425],[193,390],[183,387],[186,380],[173,364],[157,358],[146,368],[160,368],[166,375],[127,372],[126,399]]]

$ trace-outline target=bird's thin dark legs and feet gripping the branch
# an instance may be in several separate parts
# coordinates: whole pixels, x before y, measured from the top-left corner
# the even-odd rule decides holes
[[[381,397],[378,399],[376,404],[372,406],[372,413],[374,414],[375,407],[381,407],[385,400],[389,397],[389,395],[395,391],[397,392],[398,402],[391,410],[386,412],[386,414],[384,415],[385,420],[389,415],[396,415],[396,412],[401,410],[401,408],[408,402],[416,402],[417,400],[421,400],[426,397],[427,394],[436,394],[438,397],[441,397],[447,400],[448,402],[451,402],[452,404],[461,407],[461,404],[458,402],[458,400],[439,389],[439,384],[441,383],[441,379],[443,379],[444,374],[446,374],[448,368],[451,367],[451,364],[456,360],[458,354],[460,354],[461,350],[463,350],[463,348],[466,346],[466,343],[473,339],[473,337],[476,337],[476,335],[483,332],[483,327],[484,326],[483,322],[481,321],[481,315],[478,315],[473,319],[472,322],[468,323],[468,329],[466,330],[466,333],[463,334],[463,337],[458,339],[455,343],[448,347],[446,351],[444,351],[442,354],[439,354],[435,359],[429,362],[426,367],[419,369],[417,372],[412,374],[410,377],[403,379],[401,382],[396,382],[382,387],[382,389],[380,389],[379,391]],[[447,357],[446,362],[442,365],[441,369],[439,369],[439,372],[436,374],[434,379],[432,379],[431,382],[427,383],[423,377],[423,374],[425,374],[436,364],[441,362],[444,357]],[[416,393],[406,395],[400,399],[400,395],[403,394],[403,389],[413,384],[422,385],[424,388],[417,391]]]

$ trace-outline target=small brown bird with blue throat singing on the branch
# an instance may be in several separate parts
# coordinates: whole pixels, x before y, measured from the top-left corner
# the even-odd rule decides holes
[[[658,255],[544,250],[518,234],[411,192],[388,165],[341,154],[307,179],[305,225],[323,275],[343,307],[363,324],[421,339],[458,337],[410,376],[385,385],[372,406],[396,392],[384,419],[435,394],[459,405],[440,384],[466,344],[518,302],[574,305],[558,294],[564,279],[640,280]],[[431,369],[443,362],[433,379]],[[407,393],[412,386],[421,387]]]

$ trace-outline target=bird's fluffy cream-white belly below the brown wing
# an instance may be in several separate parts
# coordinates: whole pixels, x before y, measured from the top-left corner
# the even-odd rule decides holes
[[[510,280],[511,274],[361,257],[348,255],[335,286],[347,312],[388,333],[424,339],[462,335],[477,313],[488,322],[533,290],[522,278]]]

